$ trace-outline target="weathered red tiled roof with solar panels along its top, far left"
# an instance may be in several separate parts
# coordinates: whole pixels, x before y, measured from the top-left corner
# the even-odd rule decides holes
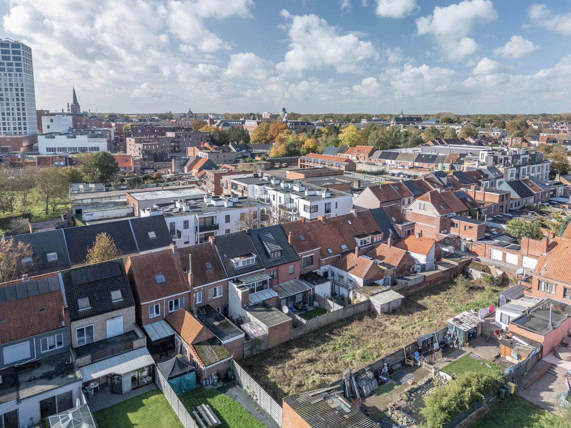
[[[57,275],[57,273],[47,273],[31,277],[30,281],[57,277]],[[22,284],[22,280],[4,282],[0,287],[16,284]],[[0,344],[51,332],[69,325],[69,313],[64,312],[64,306],[61,290],[0,303],[0,318],[5,318],[5,321],[0,323]]]

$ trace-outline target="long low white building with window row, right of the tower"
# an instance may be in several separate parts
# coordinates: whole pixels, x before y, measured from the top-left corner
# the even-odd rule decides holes
[[[47,117],[47,116],[46,116]],[[50,132],[38,135],[40,155],[102,152],[107,149],[107,135],[92,131]]]

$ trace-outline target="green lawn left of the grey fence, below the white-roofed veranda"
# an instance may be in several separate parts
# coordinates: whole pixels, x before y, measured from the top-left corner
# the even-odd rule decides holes
[[[159,389],[94,413],[99,428],[183,428]]]

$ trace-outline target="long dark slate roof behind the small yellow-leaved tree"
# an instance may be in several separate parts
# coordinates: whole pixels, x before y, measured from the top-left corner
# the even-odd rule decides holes
[[[115,245],[123,255],[164,248],[172,243],[162,215],[73,227],[63,231],[72,265],[85,261],[87,248],[93,245],[95,237],[102,232],[107,233],[115,241]],[[155,238],[151,239],[148,236],[150,231],[155,232]]]

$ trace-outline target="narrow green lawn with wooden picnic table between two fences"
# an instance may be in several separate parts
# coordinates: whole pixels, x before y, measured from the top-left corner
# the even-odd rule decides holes
[[[196,410],[196,406],[208,404],[222,422],[219,425],[220,428],[266,428],[266,425],[252,416],[240,403],[215,388],[206,389],[199,386],[180,395],[180,401],[193,418],[192,411]]]

